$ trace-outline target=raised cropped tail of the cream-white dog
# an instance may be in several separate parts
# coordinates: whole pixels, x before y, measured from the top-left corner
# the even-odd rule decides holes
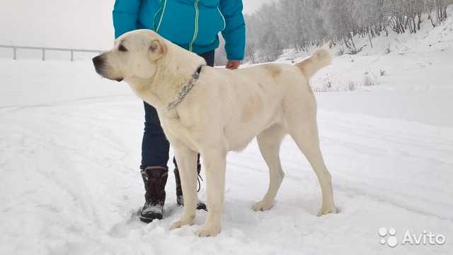
[[[296,64],[296,66],[304,73],[307,79],[310,79],[317,71],[331,64],[331,61],[331,52],[326,47],[322,47],[317,49],[308,59]]]

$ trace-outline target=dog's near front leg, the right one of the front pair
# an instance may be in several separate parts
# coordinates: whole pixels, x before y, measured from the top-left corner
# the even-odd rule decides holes
[[[207,184],[207,219],[195,235],[214,237],[219,234],[222,225],[226,153],[219,148],[212,148],[202,153],[202,156]]]

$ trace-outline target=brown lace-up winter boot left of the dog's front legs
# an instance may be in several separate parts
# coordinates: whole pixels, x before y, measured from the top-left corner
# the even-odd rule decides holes
[[[162,219],[165,203],[165,184],[167,183],[168,169],[166,167],[147,167],[142,170],[144,182],[145,203],[140,212],[140,220],[151,223],[155,219]]]

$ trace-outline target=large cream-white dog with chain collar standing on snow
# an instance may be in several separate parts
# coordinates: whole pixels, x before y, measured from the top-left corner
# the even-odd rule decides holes
[[[309,78],[331,56],[319,49],[295,66],[264,64],[228,70],[205,66],[205,60],[151,30],[117,38],[115,46],[93,59],[101,76],[129,83],[137,96],[157,109],[174,148],[183,187],[183,215],[171,229],[192,225],[197,204],[197,153],[207,183],[207,219],[200,237],[221,230],[226,153],[242,150],[257,138],[270,171],[269,188],[253,210],[269,210],[284,173],[279,150],[289,134],[309,160],[322,191],[319,215],[336,213],[331,174],[324,165],[316,124],[316,101]]]

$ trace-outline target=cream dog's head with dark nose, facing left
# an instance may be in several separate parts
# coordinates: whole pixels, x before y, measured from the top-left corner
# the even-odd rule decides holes
[[[152,30],[134,30],[115,40],[113,49],[93,58],[96,73],[110,80],[149,80],[168,52],[166,40]]]

